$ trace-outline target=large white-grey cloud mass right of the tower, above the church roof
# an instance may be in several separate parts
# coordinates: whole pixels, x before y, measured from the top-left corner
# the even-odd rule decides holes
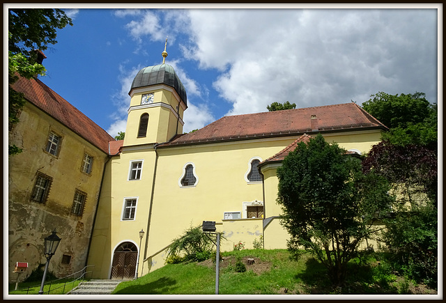
[[[214,87],[233,104],[228,114],[266,111],[286,100],[298,107],[362,103],[378,91],[431,91],[436,101],[435,10],[190,10],[189,16],[185,56],[220,70]]]

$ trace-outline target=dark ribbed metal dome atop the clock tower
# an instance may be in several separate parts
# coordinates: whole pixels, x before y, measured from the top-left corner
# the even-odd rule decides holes
[[[130,91],[133,88],[156,84],[166,84],[174,88],[181,100],[183,100],[184,104],[187,106],[186,90],[183,83],[181,83],[180,78],[178,78],[176,75],[174,68],[172,68],[169,64],[148,66],[142,70],[139,70],[136,77],[133,79]]]

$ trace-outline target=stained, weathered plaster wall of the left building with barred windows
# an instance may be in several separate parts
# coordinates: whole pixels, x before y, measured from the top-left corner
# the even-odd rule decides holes
[[[49,131],[62,137],[57,156],[45,151]],[[32,104],[26,103],[20,123],[10,132],[10,143],[23,152],[8,159],[8,272],[16,262],[28,262],[25,279],[40,263],[45,263],[44,238],[56,228],[62,239],[49,270],[58,277],[82,270],[86,263],[93,217],[107,155]],[[93,157],[92,171],[81,171],[84,153]],[[53,178],[46,203],[30,200],[37,172]],[[87,194],[82,217],[71,214],[75,189]],[[61,264],[63,254],[71,256]]]

